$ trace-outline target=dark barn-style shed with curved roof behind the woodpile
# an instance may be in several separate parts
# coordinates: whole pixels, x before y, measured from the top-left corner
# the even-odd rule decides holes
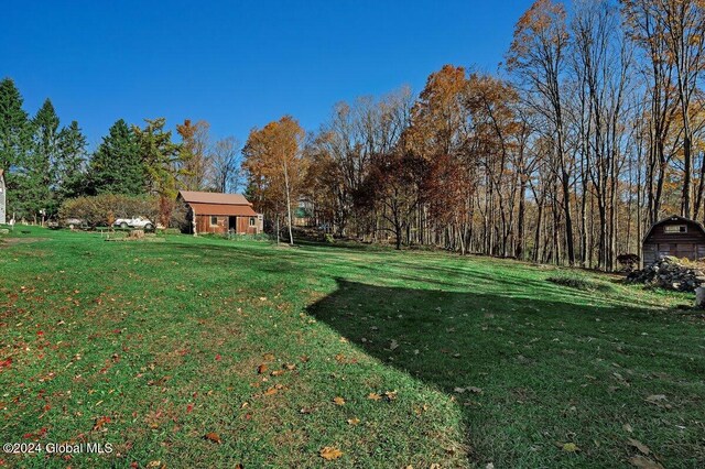
[[[688,218],[673,215],[654,223],[642,242],[643,265],[665,255],[691,261],[705,258],[705,229]]]

